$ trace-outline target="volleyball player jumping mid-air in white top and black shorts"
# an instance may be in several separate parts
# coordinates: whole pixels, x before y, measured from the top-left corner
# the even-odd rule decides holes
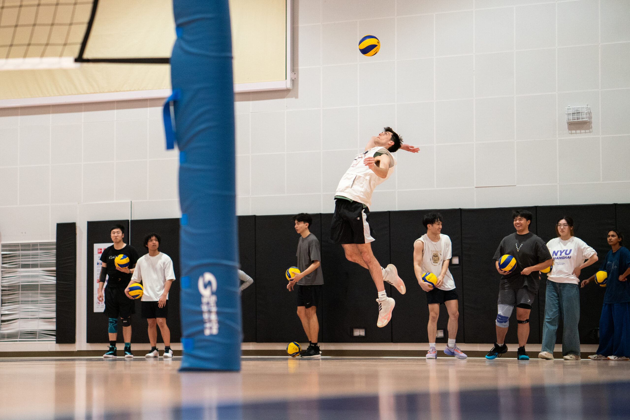
[[[391,319],[394,299],[387,297],[383,281],[396,287],[404,295],[406,289],[398,276],[394,264],[382,268],[372,254],[370,242],[374,241],[372,227],[369,224],[372,192],[394,173],[396,159],[392,156],[398,149],[417,153],[418,147],[403,144],[403,139],[390,127],[370,138],[365,151],[355,157],[350,169],[341,177],[335,193],[335,214],[330,227],[330,239],[343,246],[346,258],[367,268],[378,292],[379,319],[378,327],[384,327]]]

